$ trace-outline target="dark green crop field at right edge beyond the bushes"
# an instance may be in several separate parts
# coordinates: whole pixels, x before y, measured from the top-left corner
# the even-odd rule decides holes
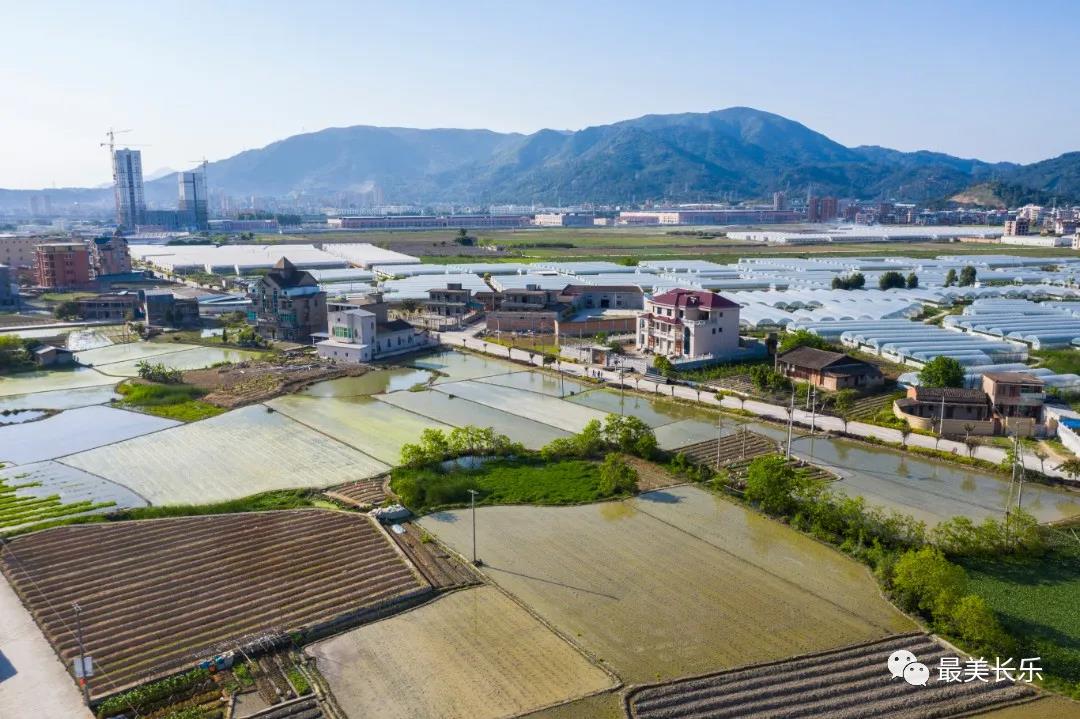
[[[1050,688],[1080,696],[1080,557],[1052,553],[960,564],[971,589],[986,599],[1010,634],[1023,638],[1023,655],[1041,656],[1044,674],[1067,682],[1052,681]]]

